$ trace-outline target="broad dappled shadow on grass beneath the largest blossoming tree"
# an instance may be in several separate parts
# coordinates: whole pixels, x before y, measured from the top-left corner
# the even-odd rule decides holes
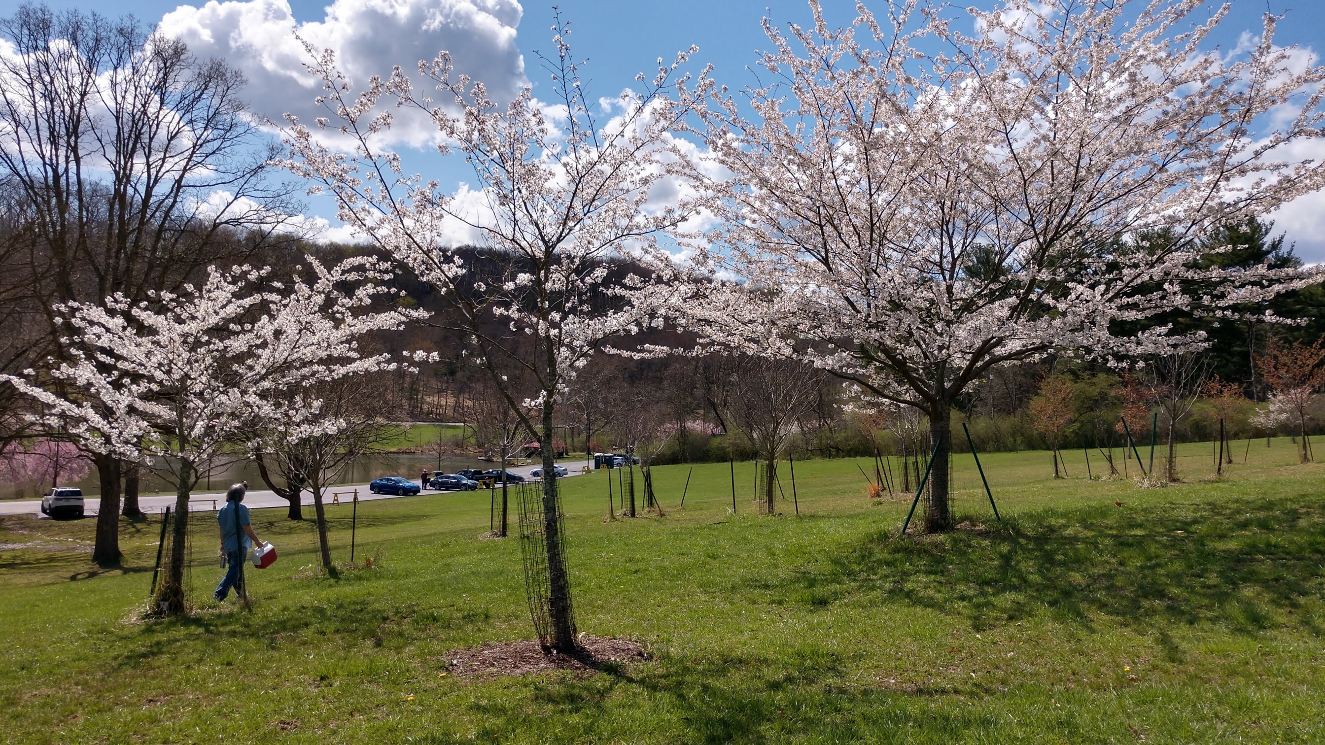
[[[1032,513],[988,533],[878,533],[762,589],[775,603],[908,603],[963,614],[975,627],[1037,615],[1090,627],[1108,616],[1318,635],[1325,504],[1109,505]]]

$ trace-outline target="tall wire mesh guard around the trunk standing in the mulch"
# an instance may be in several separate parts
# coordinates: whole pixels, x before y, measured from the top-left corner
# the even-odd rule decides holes
[[[568,628],[564,638],[575,638],[575,612],[571,606],[570,578],[566,566],[566,522],[562,518],[560,490],[553,488],[555,518],[549,520],[543,483],[519,485],[519,553],[525,563],[525,595],[529,614],[538,631],[543,650],[551,650],[556,638],[555,623],[563,620]],[[553,608],[553,602],[563,608]],[[562,612],[555,612],[562,611]]]

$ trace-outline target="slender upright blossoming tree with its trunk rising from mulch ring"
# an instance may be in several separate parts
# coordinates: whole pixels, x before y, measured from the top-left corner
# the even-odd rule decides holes
[[[435,322],[469,339],[506,406],[541,444],[550,585],[543,610],[551,620],[543,644],[571,652],[553,469],[558,400],[608,339],[660,322],[672,290],[659,274],[632,273],[621,258],[657,256],[664,236],[684,237],[698,207],[684,195],[661,207],[651,201],[686,155],[668,133],[688,109],[665,93],[689,52],[673,64],[659,60],[657,74],[640,76],[637,91],[603,103],[580,86],[570,28],[558,24],[555,32],[555,53],[541,57],[550,101],[530,89],[494,101],[482,82],[453,76],[445,52],[419,64],[423,89],[398,68],[355,97],[334,56],[317,56],[309,70],[323,82],[318,101],[327,117],[310,123],[288,117],[286,166],[319,184],[343,221],[449,301]],[[469,188],[449,194],[407,174],[399,154],[382,144],[401,110],[432,121],[439,150],[472,167]],[[348,151],[334,148],[347,142]],[[469,262],[457,243],[474,243],[484,256]],[[506,367],[533,382],[533,398],[509,384]]]

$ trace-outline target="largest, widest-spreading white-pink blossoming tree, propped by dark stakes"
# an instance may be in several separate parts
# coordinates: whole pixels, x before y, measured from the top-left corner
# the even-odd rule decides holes
[[[1219,225],[1325,183],[1289,152],[1321,135],[1325,68],[1273,44],[1277,19],[1224,54],[1227,7],[1200,0],[905,0],[844,29],[811,7],[810,28],[765,23],[761,84],[689,90],[730,172],[698,262],[741,278],[692,318],[924,412],[926,530],[953,526],[950,412],[991,367],[1167,353],[1200,338],[1146,319],[1321,278],[1198,262]]]

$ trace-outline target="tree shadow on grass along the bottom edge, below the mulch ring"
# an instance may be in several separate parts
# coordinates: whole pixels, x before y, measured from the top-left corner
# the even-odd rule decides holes
[[[908,733],[908,741],[950,742],[990,724],[970,708],[929,705],[935,696],[994,693],[975,683],[905,691],[847,684],[851,667],[807,646],[776,659],[666,656],[587,677],[537,676],[521,681],[527,696],[476,696],[470,708],[481,724],[474,738],[519,738],[556,721],[549,741],[878,742]],[[623,715],[623,697],[639,701],[633,713]],[[1061,734],[1085,738],[1071,724]]]

